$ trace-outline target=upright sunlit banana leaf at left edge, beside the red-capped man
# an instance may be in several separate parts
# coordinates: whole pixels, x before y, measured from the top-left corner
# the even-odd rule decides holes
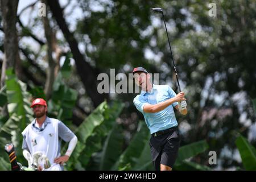
[[[16,78],[11,68],[6,70],[6,97],[10,118],[1,127],[1,144],[5,146],[7,142],[13,142],[16,147],[16,156],[20,157],[22,156],[21,144],[23,139],[21,132],[32,119],[31,95],[27,92],[27,85]],[[3,148],[0,148],[0,151],[2,153]]]

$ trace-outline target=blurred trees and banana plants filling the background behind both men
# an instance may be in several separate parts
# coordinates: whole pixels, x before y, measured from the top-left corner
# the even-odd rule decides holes
[[[97,92],[100,73],[128,75],[143,66],[177,93],[163,20],[152,7],[164,10],[188,103],[185,117],[176,113],[181,147],[174,169],[256,170],[255,0],[0,2],[1,170],[10,169],[7,142],[26,165],[20,132],[33,119],[35,97],[79,138],[65,169],[153,169],[136,94]],[[39,16],[40,3],[46,16]],[[217,16],[209,16],[209,3]],[[209,164],[209,151],[217,164]]]

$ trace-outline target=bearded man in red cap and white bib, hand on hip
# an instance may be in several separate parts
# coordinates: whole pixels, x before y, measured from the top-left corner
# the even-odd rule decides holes
[[[31,166],[31,156],[40,152],[47,157],[51,167],[39,166],[39,171],[62,171],[63,164],[76,147],[77,137],[63,122],[47,117],[47,103],[42,98],[36,98],[31,107],[36,118],[22,132],[24,158],[28,160],[28,166]],[[63,156],[60,156],[59,138],[69,142],[68,150]]]

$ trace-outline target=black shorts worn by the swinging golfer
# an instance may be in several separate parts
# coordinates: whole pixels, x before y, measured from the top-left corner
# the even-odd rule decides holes
[[[152,134],[149,145],[156,171],[160,170],[160,164],[173,168],[180,146],[179,130],[177,127],[172,127],[168,129],[168,133]]]

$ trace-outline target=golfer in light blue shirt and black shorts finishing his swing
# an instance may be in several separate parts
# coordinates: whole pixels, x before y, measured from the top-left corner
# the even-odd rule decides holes
[[[174,107],[181,114],[187,114],[184,92],[176,94],[168,85],[154,85],[146,69],[133,69],[135,83],[142,88],[133,102],[141,111],[150,129],[150,150],[152,162],[157,171],[171,171],[179,150],[180,138]]]

